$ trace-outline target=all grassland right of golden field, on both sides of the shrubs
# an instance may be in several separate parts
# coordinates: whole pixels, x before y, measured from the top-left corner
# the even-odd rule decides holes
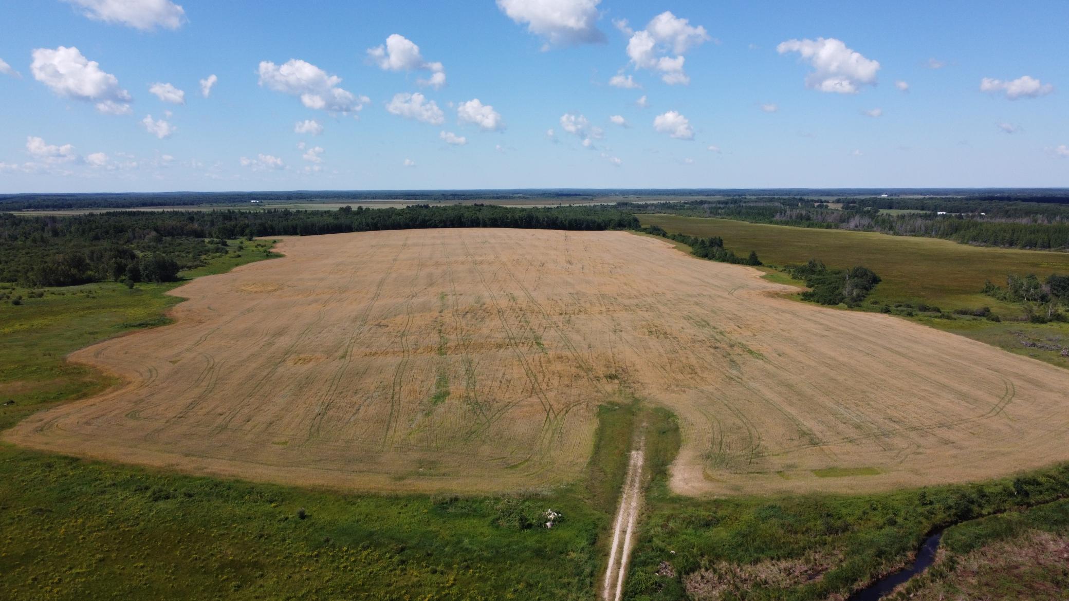
[[[820,259],[833,268],[866,266],[882,280],[866,300],[870,310],[896,303],[925,303],[947,313],[954,309],[990,307],[1003,317],[1003,322],[976,318],[947,320],[921,312],[909,319],[1014,354],[1069,368],[1069,357],[1056,351],[1024,344],[1069,345],[1069,324],[1020,321],[1023,317],[1020,307],[980,293],[986,281],[1002,286],[1009,274],[1036,274],[1040,278],[1052,273],[1069,274],[1069,252],[979,247],[928,237],[677,215],[639,215],[639,219],[644,226],[661,226],[669,232],[722,236],[726,248],[741,255],[756,250],[761,261],[770,265],[801,264],[809,259]],[[765,271],[765,277],[772,281],[804,286],[781,272]]]

